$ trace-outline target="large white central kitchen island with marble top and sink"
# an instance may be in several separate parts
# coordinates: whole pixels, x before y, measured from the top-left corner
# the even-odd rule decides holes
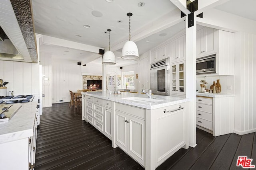
[[[112,147],[154,170],[180,148],[188,149],[187,102],[171,96],[82,92],[82,119],[111,139]]]

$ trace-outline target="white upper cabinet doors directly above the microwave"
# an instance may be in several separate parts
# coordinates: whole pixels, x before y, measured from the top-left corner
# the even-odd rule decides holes
[[[217,53],[217,29],[204,27],[196,32],[196,57]]]

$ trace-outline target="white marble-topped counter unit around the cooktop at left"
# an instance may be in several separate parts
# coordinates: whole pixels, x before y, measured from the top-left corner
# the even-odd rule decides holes
[[[0,122],[0,169],[34,168],[37,132],[37,101],[18,103],[22,107],[9,121]],[[15,104],[14,104],[15,105]]]

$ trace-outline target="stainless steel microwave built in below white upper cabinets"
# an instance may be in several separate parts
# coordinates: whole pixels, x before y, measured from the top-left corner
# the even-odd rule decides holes
[[[216,55],[203,57],[196,60],[196,74],[216,73]]]

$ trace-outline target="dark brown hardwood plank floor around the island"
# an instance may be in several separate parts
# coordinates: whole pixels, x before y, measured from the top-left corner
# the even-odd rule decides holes
[[[144,169],[90,123],[81,120],[81,108],[68,103],[43,108],[38,126],[35,170]],[[235,170],[238,156],[256,165],[256,135],[234,133],[213,137],[197,129],[195,148],[178,150],[157,170]]]

